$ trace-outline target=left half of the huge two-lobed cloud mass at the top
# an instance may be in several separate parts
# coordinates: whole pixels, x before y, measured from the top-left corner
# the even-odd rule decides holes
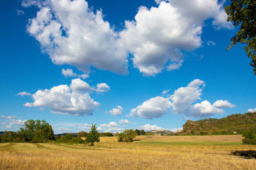
[[[52,62],[71,64],[81,71],[94,66],[127,73],[127,50],[109,22],[103,20],[101,11],[93,13],[84,0],[51,0],[39,7],[28,32]]]

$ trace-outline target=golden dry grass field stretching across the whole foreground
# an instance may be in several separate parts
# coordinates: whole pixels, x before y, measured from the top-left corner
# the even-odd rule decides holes
[[[234,156],[242,137],[137,136],[133,143],[100,138],[95,146],[1,143],[0,169],[256,169],[256,159]]]

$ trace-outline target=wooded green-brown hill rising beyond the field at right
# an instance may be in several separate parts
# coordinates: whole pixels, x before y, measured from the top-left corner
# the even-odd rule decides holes
[[[256,112],[234,114],[225,118],[206,118],[188,120],[178,135],[242,134],[244,131],[256,131]]]

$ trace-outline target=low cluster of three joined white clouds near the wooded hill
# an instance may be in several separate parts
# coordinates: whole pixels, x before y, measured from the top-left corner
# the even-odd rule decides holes
[[[214,104],[205,100],[201,103],[196,103],[202,96],[202,90],[205,87],[205,82],[199,79],[191,81],[186,87],[180,87],[174,90],[171,96],[153,97],[143,104],[133,108],[129,117],[142,118],[158,118],[163,117],[168,113],[170,108],[173,113],[184,114],[189,117],[209,117],[216,113],[223,113],[220,108],[233,108],[234,104],[228,101],[218,100]]]

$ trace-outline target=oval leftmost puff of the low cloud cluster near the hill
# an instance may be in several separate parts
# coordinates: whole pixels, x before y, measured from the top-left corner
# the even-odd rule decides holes
[[[131,110],[130,116],[138,116],[142,118],[158,118],[163,117],[167,114],[168,108],[171,107],[171,102],[164,97],[154,97],[145,102],[140,106]]]

